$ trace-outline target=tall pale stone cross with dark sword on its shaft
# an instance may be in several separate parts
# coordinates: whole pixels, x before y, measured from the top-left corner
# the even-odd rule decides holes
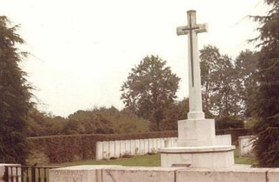
[[[188,10],[188,26],[179,26],[177,35],[189,35],[188,38],[188,80],[189,80],[189,113],[188,119],[204,119],[202,112],[202,91],[199,68],[199,51],[197,33],[207,32],[207,24],[196,24],[196,11]]]

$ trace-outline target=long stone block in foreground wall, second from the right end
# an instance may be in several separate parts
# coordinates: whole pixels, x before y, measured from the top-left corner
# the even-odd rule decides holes
[[[176,182],[262,182],[266,181],[263,168],[229,168],[229,169],[178,169]]]

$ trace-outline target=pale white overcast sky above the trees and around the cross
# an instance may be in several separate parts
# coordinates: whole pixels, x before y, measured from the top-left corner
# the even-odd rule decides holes
[[[176,35],[186,25],[186,11],[197,10],[199,49],[216,45],[234,58],[253,49],[263,0],[5,0],[1,15],[15,24],[30,56],[22,65],[40,110],[66,117],[94,106],[123,108],[121,84],[146,55],[158,55],[181,77],[179,99],[187,97],[187,38]]]

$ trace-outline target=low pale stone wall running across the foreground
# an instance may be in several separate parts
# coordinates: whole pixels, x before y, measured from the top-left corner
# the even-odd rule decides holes
[[[278,182],[279,168],[234,166],[227,169],[80,165],[50,170],[50,182]]]

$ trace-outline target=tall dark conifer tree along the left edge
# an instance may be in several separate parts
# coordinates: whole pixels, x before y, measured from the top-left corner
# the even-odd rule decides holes
[[[19,63],[27,53],[17,49],[24,40],[7,17],[0,17],[0,163],[24,163],[27,156],[26,119],[31,86]]]

